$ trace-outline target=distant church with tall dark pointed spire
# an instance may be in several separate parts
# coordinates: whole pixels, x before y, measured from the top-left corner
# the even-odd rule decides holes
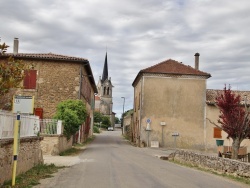
[[[114,86],[112,85],[111,77],[108,76],[108,60],[106,53],[102,77],[99,77],[97,83],[98,94],[95,96],[95,111],[100,112],[105,116],[109,116],[111,125],[114,126],[115,113],[113,112],[112,98],[112,89]]]

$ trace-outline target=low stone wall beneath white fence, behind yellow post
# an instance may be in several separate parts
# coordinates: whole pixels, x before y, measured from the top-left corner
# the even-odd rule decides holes
[[[43,163],[40,146],[42,137],[27,137],[20,139],[17,157],[16,174],[21,174]],[[6,180],[11,180],[13,168],[13,139],[0,140],[0,185]]]

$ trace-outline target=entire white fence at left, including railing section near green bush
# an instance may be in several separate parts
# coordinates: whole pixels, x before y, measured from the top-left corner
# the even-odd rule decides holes
[[[13,138],[16,114],[0,111],[0,139]],[[62,134],[62,121],[54,119],[39,120],[38,116],[21,115],[20,137],[38,134]]]

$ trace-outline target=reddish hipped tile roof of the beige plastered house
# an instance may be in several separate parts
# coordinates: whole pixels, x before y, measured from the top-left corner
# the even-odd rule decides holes
[[[140,70],[132,85],[134,85],[136,80],[144,73],[168,74],[168,75],[191,75],[191,76],[203,76],[206,78],[211,77],[209,73],[197,70],[189,65],[184,65],[181,62],[168,59],[166,61],[160,62],[146,69]]]

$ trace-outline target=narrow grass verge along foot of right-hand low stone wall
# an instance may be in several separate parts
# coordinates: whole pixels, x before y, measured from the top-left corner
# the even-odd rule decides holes
[[[172,161],[172,160],[168,160],[168,161],[172,162],[172,163],[175,163],[175,164],[178,164],[178,165],[181,165],[181,166],[185,166],[185,167],[189,167],[189,168],[194,168],[194,169],[197,169],[197,170],[200,170],[200,171],[203,171],[203,172],[208,172],[210,174],[214,174],[214,175],[217,175],[217,176],[221,176],[221,177],[228,178],[228,179],[240,182],[240,183],[244,183],[244,184],[250,185],[250,178],[244,178],[244,177],[239,177],[239,176],[233,176],[233,175],[229,175],[229,174],[219,173],[219,172],[216,172],[216,171],[213,171],[213,170],[209,170],[209,169],[201,168],[201,167],[198,167],[198,166],[190,165],[188,163],[180,163],[180,162]]]

